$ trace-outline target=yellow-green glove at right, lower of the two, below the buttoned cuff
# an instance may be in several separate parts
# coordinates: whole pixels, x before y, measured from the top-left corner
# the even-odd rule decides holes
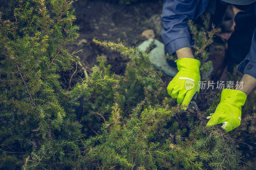
[[[220,104],[215,112],[210,114],[206,128],[223,123],[221,128],[227,132],[237,128],[241,122],[241,107],[244,105],[247,95],[244,92],[234,89],[223,89],[220,97]]]

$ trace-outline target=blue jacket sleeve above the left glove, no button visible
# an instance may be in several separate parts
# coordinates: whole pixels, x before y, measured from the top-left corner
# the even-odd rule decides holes
[[[183,47],[194,47],[188,20],[201,15],[208,3],[209,0],[164,0],[162,39],[169,54]]]

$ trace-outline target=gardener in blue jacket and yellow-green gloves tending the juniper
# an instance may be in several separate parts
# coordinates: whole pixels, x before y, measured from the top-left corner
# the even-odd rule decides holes
[[[199,71],[200,61],[194,58],[191,49],[195,46],[195,42],[190,38],[187,25],[188,20],[195,20],[207,9],[213,11],[214,15],[220,16],[221,10],[219,9],[223,9],[223,6],[230,4],[240,9],[244,8],[241,14],[244,14],[245,18],[246,16],[250,17],[251,15],[249,14],[251,13],[253,13],[253,17],[255,18],[255,1],[256,0],[164,0],[162,13],[164,28],[161,36],[168,53],[173,54],[176,52],[178,59],[175,62],[179,70],[167,86],[167,92],[172,98],[177,98],[178,104],[189,105],[194,94],[198,92],[196,85],[201,78]],[[222,14],[223,13],[224,12],[222,12]],[[219,16],[215,18],[220,18]],[[240,15],[237,16],[235,17],[235,21],[236,18],[241,17]],[[243,17],[241,20],[244,20]],[[247,23],[250,24],[250,20],[247,21]],[[249,27],[241,24],[240,27],[244,32],[241,32],[241,30],[236,31],[236,28],[239,28],[239,23],[236,23],[236,25],[234,31],[234,33],[236,33],[235,37],[244,37],[247,32],[250,32],[244,31],[247,28],[249,29]],[[221,127],[229,132],[240,125],[242,115],[241,107],[244,105],[247,95],[252,92],[256,86],[256,30],[255,25],[253,28],[251,27],[252,26],[250,26],[250,29],[253,29],[253,31],[249,44],[237,43],[234,45],[233,43],[232,47],[231,43],[230,48],[228,46],[230,55],[239,54],[236,55],[234,61],[239,57],[243,57],[243,61],[238,65],[237,70],[244,73],[244,75],[240,80],[237,90],[222,90],[219,105],[216,107],[215,112],[207,117],[210,119],[206,125],[207,128],[223,123]],[[248,36],[250,37],[250,35]],[[248,41],[248,36],[245,36],[245,41]],[[239,42],[242,41],[242,39],[236,38],[235,41],[232,41]],[[248,51],[244,50],[245,45]],[[241,56],[244,51],[247,52],[247,55]],[[232,58],[229,58],[229,60],[230,62],[231,60],[233,61]],[[186,90],[185,83],[187,80],[195,84],[192,89]],[[241,85],[242,83],[243,85]]]

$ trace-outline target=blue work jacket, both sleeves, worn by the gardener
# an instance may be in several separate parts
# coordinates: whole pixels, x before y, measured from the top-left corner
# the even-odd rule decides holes
[[[210,0],[164,0],[162,39],[169,54],[183,47],[195,46],[196,42],[191,41],[187,22],[188,19],[198,18],[209,2]],[[256,78],[256,29],[253,33],[250,52],[238,65],[237,70]]]

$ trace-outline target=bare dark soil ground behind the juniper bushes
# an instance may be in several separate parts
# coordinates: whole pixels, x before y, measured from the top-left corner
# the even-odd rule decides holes
[[[80,26],[80,36],[76,43],[69,45],[68,48],[71,52],[82,49],[76,55],[88,70],[97,64],[98,55],[105,55],[107,63],[112,66],[111,71],[123,74],[128,59],[117,52],[96,46],[92,39],[122,41],[126,46],[138,46],[145,40],[141,38],[141,33],[146,29],[153,29],[156,39],[162,41],[162,7],[161,0],[133,5],[111,4],[103,0],[75,1],[76,24]],[[219,78],[223,70],[220,60],[225,57],[225,44],[218,40],[209,50],[209,58],[216,70],[213,78]],[[164,76],[164,80],[168,83],[171,78]]]

